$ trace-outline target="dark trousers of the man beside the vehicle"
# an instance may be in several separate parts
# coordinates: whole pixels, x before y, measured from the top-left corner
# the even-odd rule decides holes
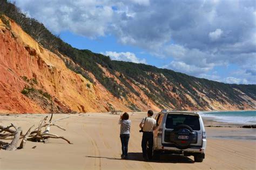
[[[147,143],[149,143],[148,150],[147,150]],[[142,136],[143,158],[152,159],[152,151],[153,151],[153,132],[143,132],[143,136]]]

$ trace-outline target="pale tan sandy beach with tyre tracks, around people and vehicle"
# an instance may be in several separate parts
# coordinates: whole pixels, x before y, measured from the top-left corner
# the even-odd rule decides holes
[[[155,116],[156,114],[154,114]],[[0,116],[0,124],[14,123],[27,131],[46,115]],[[80,115],[54,115],[53,119],[70,116],[51,133],[62,135],[73,143],[62,139],[50,139],[49,143],[28,141],[22,150],[0,150],[0,169],[255,169],[255,130],[237,128],[237,125],[217,123],[204,119],[207,125],[227,125],[231,128],[206,127],[207,148],[203,162],[194,162],[193,157],[161,155],[159,161],[142,161],[140,146],[142,133],[139,122],[145,113],[130,114],[132,121],[129,141],[129,160],[120,159],[119,115],[86,113]],[[36,146],[35,148],[32,148]]]

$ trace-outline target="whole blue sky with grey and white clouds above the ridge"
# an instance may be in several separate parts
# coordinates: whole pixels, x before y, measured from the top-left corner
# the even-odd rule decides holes
[[[16,0],[79,49],[196,77],[256,84],[255,1]]]

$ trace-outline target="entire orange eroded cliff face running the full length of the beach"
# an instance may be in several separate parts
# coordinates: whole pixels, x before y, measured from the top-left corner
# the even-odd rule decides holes
[[[183,84],[170,81],[164,74],[146,72],[152,79],[138,82],[125,77],[118,71],[109,70],[98,64],[104,77],[118,83],[128,91],[127,95],[115,97],[89,71],[81,68],[68,56],[59,52],[52,53],[43,48],[13,20],[10,26],[0,19],[0,110],[17,113],[55,112],[96,112],[156,110],[163,108],[177,110],[241,110],[255,109],[254,98],[239,89],[233,88],[235,95],[242,96],[239,103],[232,101],[223,91],[209,91],[200,82],[191,83],[193,94]],[[79,68],[89,75],[93,83],[80,74],[73,72],[66,65]],[[118,77],[125,79],[121,82]],[[161,83],[157,83],[161,80]],[[131,87],[128,88],[127,84]],[[152,90],[150,86],[159,90]],[[199,88],[200,87],[200,88]],[[134,91],[131,91],[133,89]],[[155,98],[163,94],[168,100]],[[151,96],[151,94],[156,94]],[[217,94],[215,96],[209,94]],[[197,97],[195,97],[197,96]],[[52,100],[52,102],[51,102]],[[1,112],[0,111],[0,112]]]

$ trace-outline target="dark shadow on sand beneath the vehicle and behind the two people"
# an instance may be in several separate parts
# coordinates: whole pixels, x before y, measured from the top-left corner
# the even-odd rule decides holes
[[[111,158],[111,157],[97,157],[97,156],[85,156],[87,158],[105,158],[105,159],[112,159],[112,160],[123,160],[120,158]],[[144,161],[142,153],[140,152],[130,152],[128,153],[128,159],[127,161],[133,160],[133,161]],[[159,160],[150,160],[148,162],[163,162],[163,163],[183,163],[183,164],[193,164],[194,161],[188,157],[185,157],[183,155],[171,155],[171,154],[164,154],[160,155]]]

